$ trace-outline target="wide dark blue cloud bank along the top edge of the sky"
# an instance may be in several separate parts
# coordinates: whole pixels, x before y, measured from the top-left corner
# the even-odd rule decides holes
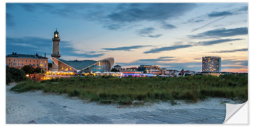
[[[93,20],[110,30],[121,29],[142,21],[155,22],[177,18],[194,9],[191,3],[133,3],[133,4],[93,4],[93,3],[58,3],[58,4],[17,4],[28,12],[44,11],[57,16]],[[120,26],[122,25],[122,26]],[[168,26],[173,27],[173,26]]]

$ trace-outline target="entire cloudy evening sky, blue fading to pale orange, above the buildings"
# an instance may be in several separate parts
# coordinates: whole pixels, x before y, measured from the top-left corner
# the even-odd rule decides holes
[[[44,55],[60,35],[61,59],[114,57],[122,68],[248,72],[247,3],[7,3],[6,55]]]

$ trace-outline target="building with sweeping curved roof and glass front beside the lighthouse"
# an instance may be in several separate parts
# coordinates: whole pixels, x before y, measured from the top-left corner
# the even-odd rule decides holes
[[[114,57],[108,57],[99,61],[95,60],[63,60],[51,57],[53,62],[58,66],[58,71],[64,72],[110,72],[114,66]]]

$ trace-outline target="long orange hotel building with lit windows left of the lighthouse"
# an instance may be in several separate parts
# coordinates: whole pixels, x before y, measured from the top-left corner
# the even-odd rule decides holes
[[[26,55],[12,53],[6,56],[6,65],[11,68],[21,69],[24,66],[33,66],[48,71],[48,58],[39,55]]]

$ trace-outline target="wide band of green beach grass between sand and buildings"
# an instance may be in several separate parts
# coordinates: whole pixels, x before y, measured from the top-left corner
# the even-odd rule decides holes
[[[11,91],[42,90],[45,93],[68,94],[100,103],[132,104],[143,102],[188,100],[207,97],[248,100],[248,75],[184,77],[70,77],[44,81],[19,82]]]

